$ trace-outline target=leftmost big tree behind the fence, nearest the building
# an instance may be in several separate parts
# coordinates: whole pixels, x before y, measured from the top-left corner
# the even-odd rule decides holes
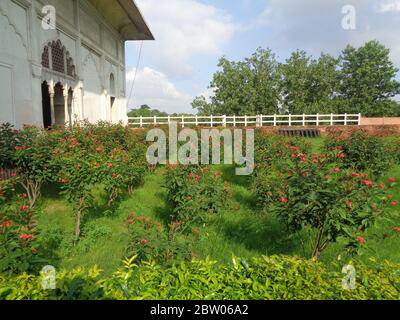
[[[278,63],[270,50],[258,48],[250,58],[239,62],[223,57],[218,67],[222,70],[214,74],[210,84],[215,93],[211,104],[197,98],[195,108],[217,115],[277,113]]]

